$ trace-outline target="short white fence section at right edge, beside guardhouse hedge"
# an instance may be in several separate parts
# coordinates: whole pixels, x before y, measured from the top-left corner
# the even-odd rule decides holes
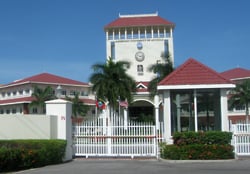
[[[250,156],[250,124],[233,124],[232,132],[236,156]]]

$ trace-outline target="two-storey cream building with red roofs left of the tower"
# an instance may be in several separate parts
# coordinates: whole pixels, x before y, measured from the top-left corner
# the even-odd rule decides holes
[[[29,105],[35,100],[32,97],[35,86],[41,89],[50,86],[53,93],[60,98],[66,96],[73,98],[75,94],[78,94],[84,104],[95,108],[95,98],[89,84],[41,73],[0,86],[0,114],[42,114],[44,111],[41,108]],[[94,109],[90,110],[89,114],[92,112],[94,114]]]

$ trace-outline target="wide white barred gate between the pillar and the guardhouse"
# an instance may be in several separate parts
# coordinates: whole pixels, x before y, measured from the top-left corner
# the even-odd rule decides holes
[[[157,132],[153,124],[121,118],[87,120],[73,127],[75,156],[157,157]]]

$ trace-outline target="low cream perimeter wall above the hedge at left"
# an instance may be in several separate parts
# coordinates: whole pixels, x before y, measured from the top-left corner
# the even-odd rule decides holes
[[[0,139],[56,139],[57,116],[1,115]]]

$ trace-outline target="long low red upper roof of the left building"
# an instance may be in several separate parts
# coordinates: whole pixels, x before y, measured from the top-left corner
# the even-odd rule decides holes
[[[87,83],[71,80],[65,77],[49,73],[41,73],[22,80],[14,81],[8,85],[23,84],[23,83],[50,83],[50,84],[67,84],[67,85],[88,85]]]

